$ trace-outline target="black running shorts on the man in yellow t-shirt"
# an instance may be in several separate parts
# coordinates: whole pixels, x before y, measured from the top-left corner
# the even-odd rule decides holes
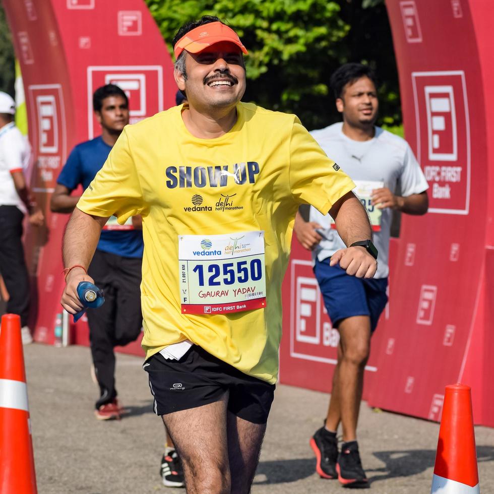
[[[229,391],[231,413],[253,423],[268,420],[276,386],[240,372],[200,346],[193,345],[179,360],[156,353],[143,367],[157,415],[207,405]]]

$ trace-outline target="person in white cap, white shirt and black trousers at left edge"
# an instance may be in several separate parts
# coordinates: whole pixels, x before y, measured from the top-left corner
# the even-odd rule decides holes
[[[27,326],[29,314],[29,279],[21,241],[22,220],[41,226],[43,213],[31,198],[23,170],[30,149],[27,139],[15,126],[14,100],[0,91],[0,273],[9,293],[7,312],[21,317],[22,341],[31,343]]]

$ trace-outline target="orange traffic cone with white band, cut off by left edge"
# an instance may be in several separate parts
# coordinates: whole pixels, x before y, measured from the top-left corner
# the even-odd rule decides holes
[[[0,332],[0,494],[36,494],[21,318],[2,316]]]

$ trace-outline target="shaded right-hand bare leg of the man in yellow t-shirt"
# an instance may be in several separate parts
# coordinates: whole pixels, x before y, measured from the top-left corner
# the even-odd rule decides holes
[[[231,494],[249,494],[256,474],[266,424],[252,423],[227,412]]]

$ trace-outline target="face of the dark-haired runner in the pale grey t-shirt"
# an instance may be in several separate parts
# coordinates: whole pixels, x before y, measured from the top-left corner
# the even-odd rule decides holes
[[[379,102],[376,86],[366,76],[348,83],[336,100],[336,108],[343,120],[352,127],[373,126],[378,116]]]

